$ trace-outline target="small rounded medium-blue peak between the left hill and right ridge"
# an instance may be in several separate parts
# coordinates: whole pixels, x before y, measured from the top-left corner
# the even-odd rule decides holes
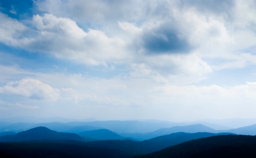
[[[115,132],[112,132],[107,129],[98,129],[91,131],[84,131],[78,134],[79,136],[85,138],[92,138],[94,140],[120,140],[121,136],[117,135]]]

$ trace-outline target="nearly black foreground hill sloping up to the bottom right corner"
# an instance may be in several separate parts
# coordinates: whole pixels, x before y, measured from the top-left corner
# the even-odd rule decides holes
[[[256,136],[222,135],[201,138],[136,157],[256,157]]]

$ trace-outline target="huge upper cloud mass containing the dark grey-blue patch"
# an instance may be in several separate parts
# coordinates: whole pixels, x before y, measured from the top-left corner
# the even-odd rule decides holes
[[[254,58],[254,1],[34,3],[43,13],[26,23],[0,14],[6,21],[0,24],[2,43],[86,65],[130,66],[132,76],[146,68],[150,73],[140,76],[157,80],[199,81],[212,71],[255,63],[239,58]]]

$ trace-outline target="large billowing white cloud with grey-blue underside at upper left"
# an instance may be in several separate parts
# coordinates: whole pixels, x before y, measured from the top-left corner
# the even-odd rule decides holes
[[[122,39],[108,37],[100,30],[89,29],[86,32],[69,18],[57,18],[52,14],[34,15],[31,24],[35,29],[2,13],[0,18],[7,21],[0,27],[4,35],[0,40],[7,45],[31,52],[50,53],[88,65],[106,65],[109,61],[128,57]]]

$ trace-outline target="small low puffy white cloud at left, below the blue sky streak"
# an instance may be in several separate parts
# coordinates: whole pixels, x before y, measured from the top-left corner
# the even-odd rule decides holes
[[[50,76],[49,76],[50,77]],[[63,79],[62,79],[63,80]],[[67,82],[67,84],[69,84]],[[79,82],[79,84],[82,84]],[[65,85],[61,85],[65,87]],[[74,88],[53,88],[38,79],[22,79],[19,81],[7,82],[3,87],[0,87],[0,93],[5,95],[20,95],[38,101],[63,101],[78,103],[85,100],[95,100],[95,94],[87,93],[84,90]],[[1,104],[1,103],[0,103]],[[23,105],[20,103],[13,106],[23,107],[25,109],[36,109],[38,106]]]

